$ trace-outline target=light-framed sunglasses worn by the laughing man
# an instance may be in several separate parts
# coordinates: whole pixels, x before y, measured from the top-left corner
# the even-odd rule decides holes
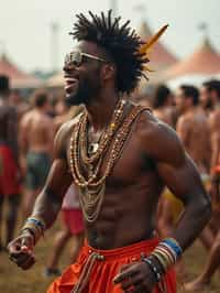
[[[94,56],[94,55],[90,55],[90,54],[87,54],[87,53],[82,53],[80,51],[74,51],[74,52],[70,52],[70,53],[66,54],[65,64],[74,65],[76,67],[79,67],[82,64],[82,62],[84,62],[84,57],[87,57],[87,58],[90,58],[90,59],[100,61],[100,62],[107,62],[107,61],[105,61],[102,58],[99,58],[97,56]]]

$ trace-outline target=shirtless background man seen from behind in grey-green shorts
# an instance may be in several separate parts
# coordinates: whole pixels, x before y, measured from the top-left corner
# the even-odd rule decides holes
[[[20,122],[21,162],[25,176],[23,202],[24,217],[33,208],[35,196],[44,186],[53,150],[53,119],[47,116],[48,95],[37,90],[33,96],[33,109],[26,112]]]

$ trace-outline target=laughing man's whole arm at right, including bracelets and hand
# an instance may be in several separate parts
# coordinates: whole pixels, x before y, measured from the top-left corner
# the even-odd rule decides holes
[[[154,159],[155,166],[164,184],[184,202],[185,211],[177,227],[167,239],[141,262],[121,268],[113,279],[127,292],[152,292],[163,275],[176,263],[183,251],[199,236],[211,216],[210,198],[199,173],[185,153],[176,132],[153,118],[141,131],[143,152]]]

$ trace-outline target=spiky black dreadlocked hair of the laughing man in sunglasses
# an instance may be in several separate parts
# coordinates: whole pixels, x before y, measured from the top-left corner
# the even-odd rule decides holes
[[[89,11],[89,20],[82,13],[77,14],[73,35],[77,41],[90,41],[103,47],[117,65],[117,88],[121,93],[130,94],[144,74],[144,65],[148,62],[145,54],[139,53],[143,44],[141,37],[131,31],[127,21],[119,25],[120,17],[112,19],[112,11],[108,15],[101,12],[98,17]],[[147,79],[147,78],[146,78]]]

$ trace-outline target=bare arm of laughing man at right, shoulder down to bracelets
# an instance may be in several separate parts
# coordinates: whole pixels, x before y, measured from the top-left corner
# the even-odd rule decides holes
[[[186,154],[175,131],[164,124],[156,128],[157,145],[152,148],[151,155],[156,161],[156,169],[164,184],[184,203],[185,211],[170,237],[185,250],[208,223],[211,202],[197,167]]]

